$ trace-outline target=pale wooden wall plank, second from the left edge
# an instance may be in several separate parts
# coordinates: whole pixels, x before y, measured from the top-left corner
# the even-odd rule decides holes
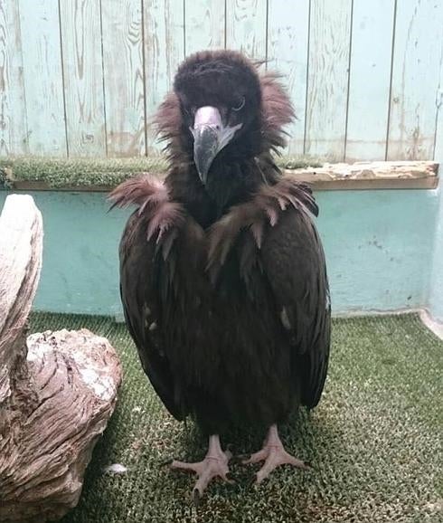
[[[19,0],[24,93],[33,155],[65,157],[58,0]]]

